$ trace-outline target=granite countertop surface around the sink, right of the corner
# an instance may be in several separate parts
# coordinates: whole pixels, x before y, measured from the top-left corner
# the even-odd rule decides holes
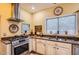
[[[47,40],[47,41],[54,41],[54,42],[61,42],[61,43],[68,43],[68,44],[79,44],[79,40],[72,40],[72,39],[64,39],[64,38],[50,38],[50,37],[40,37],[40,36],[33,36],[32,38]]]

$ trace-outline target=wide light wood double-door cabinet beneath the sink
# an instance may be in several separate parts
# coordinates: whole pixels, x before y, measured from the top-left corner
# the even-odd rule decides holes
[[[47,55],[71,55],[71,44],[48,41],[46,45]]]

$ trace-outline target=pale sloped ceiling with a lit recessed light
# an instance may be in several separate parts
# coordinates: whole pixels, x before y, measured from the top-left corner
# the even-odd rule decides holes
[[[53,7],[55,5],[57,5],[57,4],[56,3],[21,3],[20,7],[25,9],[26,11],[28,11],[30,13],[35,13],[35,12],[38,12],[40,10]],[[32,9],[32,6],[35,9]]]

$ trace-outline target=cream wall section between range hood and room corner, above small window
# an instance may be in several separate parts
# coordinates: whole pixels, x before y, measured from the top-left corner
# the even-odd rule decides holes
[[[32,30],[32,23],[33,23],[33,19],[32,19],[32,14],[27,12],[25,9],[20,8],[20,19],[24,20],[25,24],[30,24],[30,31]]]

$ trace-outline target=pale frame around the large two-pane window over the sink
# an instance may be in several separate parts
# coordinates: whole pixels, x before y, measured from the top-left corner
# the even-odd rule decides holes
[[[67,17],[67,16],[75,16],[75,35],[78,34],[78,29],[77,29],[77,14],[69,14],[69,15],[64,15],[64,16],[56,16],[56,17],[48,17],[45,19],[45,33],[47,33],[47,20],[51,20],[51,19],[57,19],[58,20],[58,31],[59,31],[59,18],[62,17]],[[47,33],[48,34],[48,33]]]

